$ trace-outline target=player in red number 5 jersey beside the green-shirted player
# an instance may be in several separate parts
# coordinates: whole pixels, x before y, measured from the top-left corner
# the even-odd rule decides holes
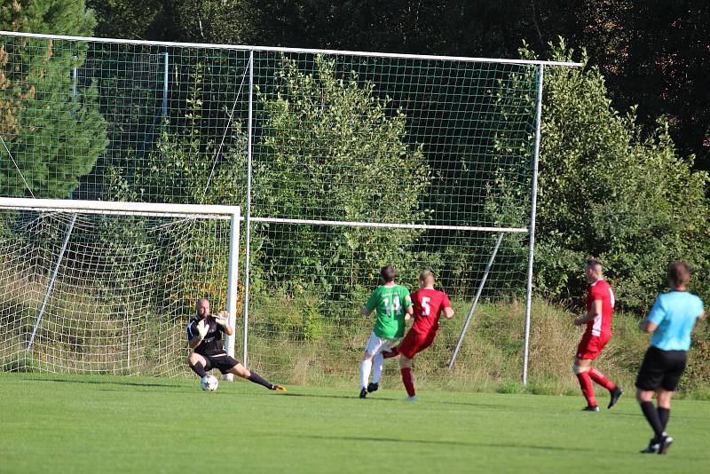
[[[429,270],[420,273],[419,285],[421,288],[410,295],[414,307],[412,328],[409,328],[405,338],[397,347],[384,353],[385,358],[399,354],[399,371],[402,374],[402,382],[405,384],[408,395],[406,399],[409,401],[416,400],[414,375],[412,375],[414,355],[422,352],[434,342],[438,331],[438,320],[442,312],[447,320],[454,317],[454,309],[451,307],[449,297],[443,291],[434,289],[433,273]]]

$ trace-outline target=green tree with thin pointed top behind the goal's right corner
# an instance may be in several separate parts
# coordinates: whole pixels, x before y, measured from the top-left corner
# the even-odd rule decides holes
[[[208,129],[204,122],[209,122],[209,117],[202,116],[203,96],[202,67],[197,65],[193,67],[184,115],[176,124],[167,121],[162,124],[154,149],[146,158],[134,159],[130,172],[109,166],[106,199],[244,205],[246,136],[239,122],[230,123],[223,143],[216,143],[212,134],[204,133]],[[131,239],[145,238],[128,224],[129,228],[120,228],[120,233],[128,234]],[[224,221],[201,222],[195,227],[199,231],[185,233],[184,227],[166,226],[157,239],[157,245],[168,249],[160,263],[165,268],[164,278],[173,278],[177,266],[179,274],[209,275],[200,283],[191,280],[189,287],[180,288],[187,302],[185,307],[193,304],[196,297],[219,301],[226,288],[225,256],[229,255],[229,242],[225,233],[217,230],[224,227]]]

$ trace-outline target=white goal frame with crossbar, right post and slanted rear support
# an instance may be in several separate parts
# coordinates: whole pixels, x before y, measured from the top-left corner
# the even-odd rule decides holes
[[[237,291],[239,283],[239,243],[240,243],[240,206],[220,206],[201,204],[172,204],[153,202],[121,202],[121,201],[82,201],[64,199],[31,199],[31,198],[5,198],[0,197],[0,209],[11,210],[37,210],[51,212],[68,212],[84,214],[119,214],[127,216],[165,216],[165,217],[209,217],[230,221],[229,235],[229,265],[227,278],[227,312],[229,312],[229,325],[236,328]],[[63,249],[59,253],[58,261],[47,285],[44,302],[51,294],[51,288],[56,278],[57,269],[64,254],[72,225],[67,229]],[[36,330],[42,321],[44,303],[37,313],[35,328],[26,347],[26,352],[32,346]],[[236,333],[225,338],[225,350],[234,357]],[[247,327],[244,326],[244,352],[246,357]],[[225,380],[233,380],[232,374],[226,374]]]

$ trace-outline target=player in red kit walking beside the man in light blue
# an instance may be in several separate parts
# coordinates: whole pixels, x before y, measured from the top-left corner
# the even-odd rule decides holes
[[[619,397],[624,392],[615,383],[606,378],[601,372],[592,367],[592,360],[602,352],[606,343],[611,338],[611,315],[614,312],[614,293],[609,283],[602,278],[602,263],[596,258],[589,258],[584,266],[585,278],[589,283],[587,295],[587,314],[574,320],[574,324],[587,325],[584,336],[577,347],[572,370],[580,381],[584,398],[587,399],[585,411],[598,412],[594,397],[592,381],[599,383],[609,391],[611,400],[609,408],[616,405]]]

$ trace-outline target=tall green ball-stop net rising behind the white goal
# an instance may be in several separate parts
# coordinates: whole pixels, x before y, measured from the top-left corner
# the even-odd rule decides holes
[[[538,78],[505,61],[3,34],[0,195],[241,206],[238,334],[248,317],[248,367],[284,382],[354,383],[379,268],[412,290],[431,269],[457,312],[418,362],[436,378],[501,233],[477,319],[525,294]],[[498,344],[472,328],[457,369],[494,367]]]

